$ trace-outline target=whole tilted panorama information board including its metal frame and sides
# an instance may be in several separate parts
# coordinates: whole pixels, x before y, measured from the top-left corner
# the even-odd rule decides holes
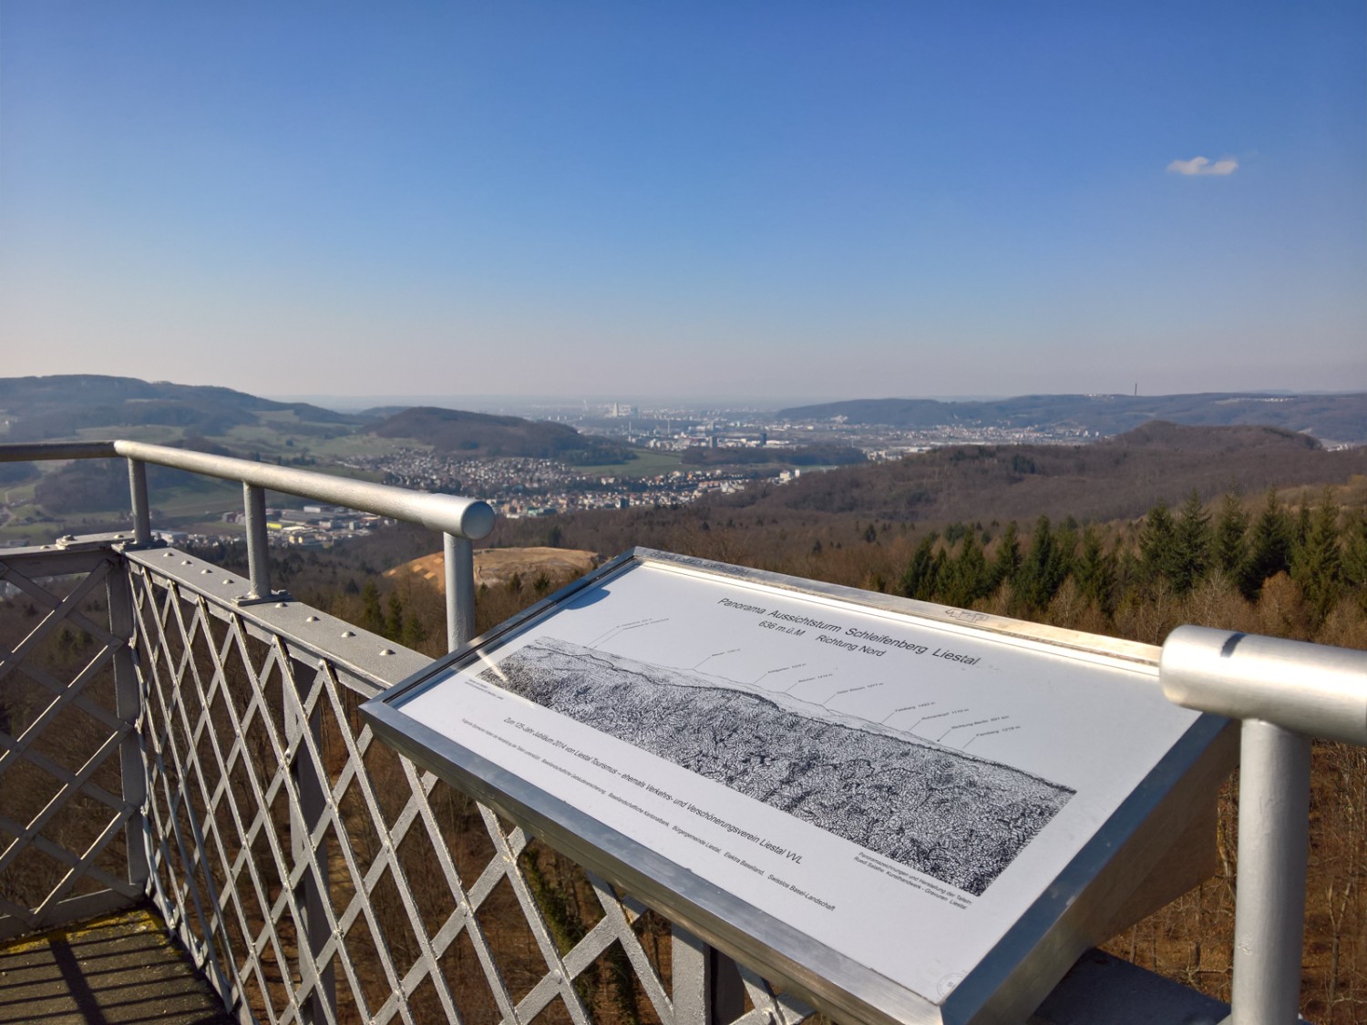
[[[819,1003],[971,1021],[1047,994],[1223,726],[1042,633],[637,549],[364,712]]]

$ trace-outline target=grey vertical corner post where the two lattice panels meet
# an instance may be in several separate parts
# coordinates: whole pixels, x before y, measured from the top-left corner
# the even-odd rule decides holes
[[[139,463],[141,466],[141,463]],[[119,772],[122,775],[123,804],[133,809],[124,827],[127,842],[128,882],[146,886],[148,882],[148,767],[142,753],[142,735],[138,720],[142,716],[142,686],[133,656],[133,586],[128,574],[130,564],[120,559],[120,566],[111,570],[105,578],[105,594],[109,600],[109,633],[118,641],[113,651],[113,705],[115,715],[127,733],[119,741]]]

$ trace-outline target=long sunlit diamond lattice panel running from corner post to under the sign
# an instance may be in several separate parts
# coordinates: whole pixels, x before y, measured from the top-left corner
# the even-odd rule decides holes
[[[328,652],[131,574],[149,886],[236,1013],[674,1025],[664,918],[383,745]]]

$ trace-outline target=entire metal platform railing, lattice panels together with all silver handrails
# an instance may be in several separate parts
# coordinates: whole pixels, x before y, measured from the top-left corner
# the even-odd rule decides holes
[[[0,938],[150,894],[245,1022],[811,1013],[379,743],[358,704],[429,660],[269,589],[264,488],[442,530],[448,581],[488,506],[126,441],[0,448],[111,455],[131,537],[0,552],[31,610],[0,638]],[[148,547],[148,462],[243,482],[250,578]],[[454,645],[473,577],[448,596]],[[1367,743],[1367,653],[1182,627],[1161,681],[1245,720],[1233,1020],[1295,1021],[1307,735]]]

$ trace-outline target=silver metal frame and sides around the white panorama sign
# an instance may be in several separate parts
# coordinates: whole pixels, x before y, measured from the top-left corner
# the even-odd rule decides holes
[[[781,988],[790,988],[839,1018],[904,1025],[1023,1020],[1088,947],[1196,882],[1188,877],[1178,888],[1167,884],[1165,890],[1162,877],[1174,864],[1173,858],[1165,861],[1165,856],[1176,838],[1203,821],[1219,780],[1233,764],[1233,731],[1218,716],[1178,709],[1188,719],[1173,720],[1178,723],[1172,734],[1174,741],[1109,810],[1099,828],[1069,849],[1057,865],[1047,866],[1047,884],[1028,894],[1014,921],[992,939],[976,964],[965,966],[961,979],[956,976],[943,992],[930,992],[932,987],[910,985],[887,965],[875,969],[813,936],[812,929],[775,913],[772,905],[757,906],[761,901],[748,887],[719,884],[697,866],[685,866],[656,850],[659,843],[652,847],[642,842],[629,827],[608,825],[563,795],[548,793],[529,780],[529,774],[510,767],[509,758],[493,757],[488,749],[472,750],[468,745],[476,739],[473,735],[450,735],[405,712],[414,700],[458,679],[465,668],[495,664],[500,648],[534,631],[576,600],[593,597],[586,592],[619,584],[625,574],[642,567],[737,585],[752,594],[770,593],[775,601],[816,600],[828,610],[852,610],[850,615],[871,612],[909,629],[953,630],[954,636],[979,645],[1005,645],[1010,659],[1024,659],[1031,666],[1048,667],[1058,660],[1072,672],[1091,671],[1079,666],[1095,666],[1099,675],[1115,675],[1120,670],[1126,681],[1151,682],[1161,698],[1159,649],[1150,645],[637,548],[372,698],[361,707],[361,713],[381,739],[418,765],[491,805]],[[633,611],[640,615],[645,610]],[[515,758],[511,761],[515,764]],[[1182,860],[1189,858],[1176,861]],[[880,913],[878,894],[871,894],[868,907],[869,916]],[[905,928],[910,935],[916,925],[906,922]]]

